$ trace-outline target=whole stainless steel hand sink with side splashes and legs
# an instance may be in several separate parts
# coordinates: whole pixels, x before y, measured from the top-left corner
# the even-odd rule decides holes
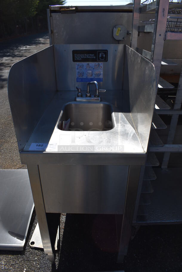
[[[90,81],[77,77],[80,50],[107,52],[97,61],[102,102],[75,102],[75,86],[85,93]],[[155,105],[153,64],[122,44],[56,44],[12,66],[8,96],[50,261],[61,212],[115,214],[122,261]],[[70,130],[61,130],[68,118]]]

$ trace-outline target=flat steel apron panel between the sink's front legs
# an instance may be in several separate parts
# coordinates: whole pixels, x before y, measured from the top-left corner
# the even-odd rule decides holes
[[[46,212],[123,214],[129,166],[39,165]]]

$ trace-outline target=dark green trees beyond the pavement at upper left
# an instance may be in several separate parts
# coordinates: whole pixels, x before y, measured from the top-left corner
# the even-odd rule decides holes
[[[0,38],[47,29],[47,8],[65,0],[0,0]]]

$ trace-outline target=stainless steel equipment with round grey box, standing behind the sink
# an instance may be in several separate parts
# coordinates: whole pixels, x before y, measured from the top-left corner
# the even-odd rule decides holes
[[[47,10],[50,45],[76,43],[129,45],[132,11],[133,7],[129,5],[73,8],[50,6]]]

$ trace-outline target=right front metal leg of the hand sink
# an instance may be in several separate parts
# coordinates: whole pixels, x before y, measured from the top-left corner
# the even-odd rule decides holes
[[[138,166],[138,165],[129,166],[124,214],[123,216],[116,215],[116,228],[117,228],[117,237],[118,237],[117,262],[123,262],[124,256],[127,255],[129,241],[131,240],[133,215],[134,215],[135,202],[136,202],[136,196],[138,191],[138,181],[140,177],[140,170],[141,170],[141,166]]]

